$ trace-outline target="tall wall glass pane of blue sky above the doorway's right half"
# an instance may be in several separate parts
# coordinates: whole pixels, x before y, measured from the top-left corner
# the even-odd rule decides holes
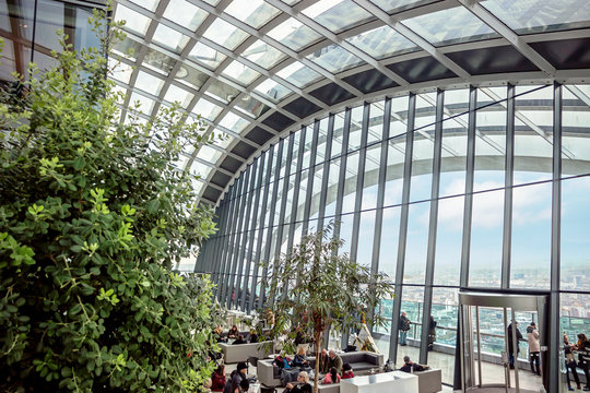
[[[511,288],[551,287],[551,182],[514,189]]]

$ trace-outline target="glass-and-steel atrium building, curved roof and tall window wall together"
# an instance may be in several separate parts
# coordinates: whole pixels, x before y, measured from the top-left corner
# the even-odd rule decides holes
[[[391,277],[381,312],[417,322],[421,361],[430,314],[455,350],[460,291],[544,294],[558,376],[560,332],[590,325],[588,2],[118,0],[115,15],[121,106],[139,100],[146,120],[178,100],[223,136],[178,163],[220,217],[180,267],[211,273],[221,302],[253,310],[260,261],[337,222],[344,251]],[[505,321],[486,312],[497,355]],[[399,361],[394,331],[376,333]]]

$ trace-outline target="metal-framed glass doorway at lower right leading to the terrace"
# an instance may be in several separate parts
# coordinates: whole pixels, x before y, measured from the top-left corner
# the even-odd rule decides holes
[[[538,393],[547,386],[533,371],[546,376],[548,300],[548,295],[459,293],[462,392]],[[529,354],[531,322],[539,333],[539,361]]]

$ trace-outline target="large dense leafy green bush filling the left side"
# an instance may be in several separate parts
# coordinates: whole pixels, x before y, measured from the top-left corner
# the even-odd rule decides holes
[[[175,166],[210,140],[178,107],[120,123],[118,25],[93,25],[102,48],[60,33],[55,68],[0,92],[0,390],[200,391],[212,284],[170,269],[215,231]]]

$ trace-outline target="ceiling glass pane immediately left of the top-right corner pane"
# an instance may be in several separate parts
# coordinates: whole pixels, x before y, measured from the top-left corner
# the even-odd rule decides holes
[[[498,34],[467,8],[441,10],[402,22],[435,46],[498,37]]]

